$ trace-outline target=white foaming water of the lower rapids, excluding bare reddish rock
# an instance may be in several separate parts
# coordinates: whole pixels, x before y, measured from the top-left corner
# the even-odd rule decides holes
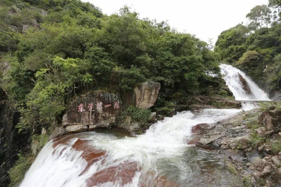
[[[163,121],[153,124],[145,134],[134,137],[118,138],[105,133],[81,133],[80,136],[77,134],[77,137],[72,138],[69,145],[57,145],[56,151],[50,141],[37,156],[20,187],[86,187],[87,180],[95,173],[124,162],[137,163],[140,168],[131,182],[124,186],[140,186],[142,175],[145,175],[146,180],[150,177],[145,181],[146,186],[154,186],[157,174],[174,176],[171,179],[176,178],[183,186],[192,186],[192,183],[185,183],[192,177],[192,170],[188,164],[181,161],[192,146],[187,145],[191,127],[199,123],[221,121],[240,111],[242,110],[204,109],[196,115],[189,111],[181,112],[174,117],[165,117]],[[87,165],[81,158],[83,151],[71,149],[71,145],[78,138],[90,140],[89,145],[106,151],[108,155],[103,161],[91,165],[83,175],[80,174]],[[169,165],[179,173],[169,173]],[[146,176],[147,173],[151,176]],[[121,183],[122,179],[119,179],[98,186],[122,186]]]

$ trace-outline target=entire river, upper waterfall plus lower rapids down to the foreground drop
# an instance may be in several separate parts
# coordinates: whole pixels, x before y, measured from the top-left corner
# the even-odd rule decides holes
[[[243,72],[230,65],[221,65],[221,71],[236,99],[269,100]],[[243,92],[238,73],[253,95]],[[252,102],[242,105],[180,112],[142,135],[102,130],[54,139],[39,153],[20,187],[231,186],[234,176],[224,167],[224,156],[188,142],[194,125],[256,107]]]

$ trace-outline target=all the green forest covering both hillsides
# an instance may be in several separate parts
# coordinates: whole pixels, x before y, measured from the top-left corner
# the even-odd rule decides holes
[[[279,0],[254,7],[246,16],[249,25],[223,31],[212,50],[167,22],[140,19],[127,6],[108,16],[80,0],[0,0],[0,99],[20,114],[17,133],[28,136],[12,156],[18,161],[9,171],[10,185],[22,180],[36,156],[31,141],[44,146],[76,94],[123,93],[155,81],[173,90],[170,98],[160,92],[155,107],[163,110],[174,105],[171,98],[230,97],[220,74],[223,62],[273,96],[281,88],[280,8]],[[46,135],[40,135],[42,127]]]

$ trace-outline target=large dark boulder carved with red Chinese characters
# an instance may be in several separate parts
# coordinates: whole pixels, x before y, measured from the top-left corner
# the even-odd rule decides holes
[[[80,95],[67,106],[62,118],[68,132],[85,131],[97,127],[109,127],[119,114],[121,98],[116,93],[95,91]],[[79,125],[74,127],[73,125]]]

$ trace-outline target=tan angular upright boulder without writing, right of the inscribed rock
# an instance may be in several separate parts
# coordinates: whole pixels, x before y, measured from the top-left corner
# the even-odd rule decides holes
[[[160,90],[158,82],[144,82],[137,84],[134,88],[136,96],[136,107],[150,108],[154,105]]]

